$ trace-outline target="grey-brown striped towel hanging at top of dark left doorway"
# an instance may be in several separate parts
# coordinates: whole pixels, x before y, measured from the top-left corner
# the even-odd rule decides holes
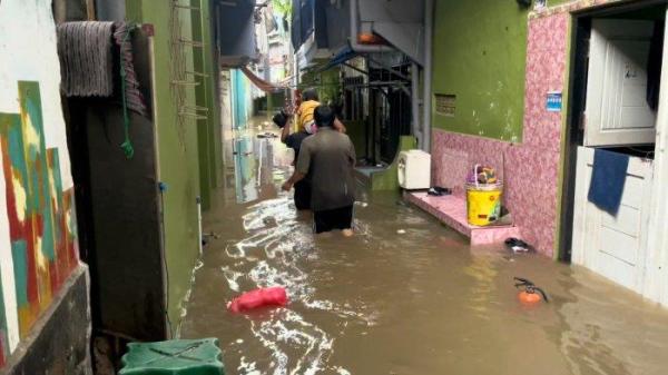
[[[68,97],[114,93],[114,22],[65,22],[58,26],[60,87]]]

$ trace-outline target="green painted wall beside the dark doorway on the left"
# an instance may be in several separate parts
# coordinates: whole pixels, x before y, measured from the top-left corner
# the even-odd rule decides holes
[[[189,0],[179,0],[184,6]],[[168,314],[173,332],[179,323],[180,304],[189,288],[193,266],[198,257],[198,223],[196,198],[199,195],[199,150],[196,120],[180,117],[177,98],[196,105],[193,87],[181,91],[171,83],[177,61],[178,46],[173,42],[170,20],[171,1],[126,0],[127,19],[151,23],[155,28],[154,52],[156,61],[156,126],[158,129],[160,180],[167,184],[164,193],[165,255],[169,278]],[[189,10],[179,9],[180,36],[193,39]],[[186,70],[194,70],[193,49],[183,46],[181,59]],[[180,93],[179,93],[180,92]]]

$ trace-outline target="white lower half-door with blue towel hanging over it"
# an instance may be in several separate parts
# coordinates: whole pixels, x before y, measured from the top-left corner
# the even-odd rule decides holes
[[[617,216],[587,200],[593,148],[578,148],[572,263],[644,293],[652,162],[630,157]]]

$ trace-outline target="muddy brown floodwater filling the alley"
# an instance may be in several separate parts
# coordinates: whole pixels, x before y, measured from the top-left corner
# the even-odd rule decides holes
[[[472,248],[395,194],[361,191],[353,238],[314,238],[279,191],[279,140],[242,135],[226,150],[180,327],[219,338],[226,374],[668,374],[668,309],[582,268]],[[513,276],[550,302],[520,305]],[[227,312],[276,285],[287,308]]]

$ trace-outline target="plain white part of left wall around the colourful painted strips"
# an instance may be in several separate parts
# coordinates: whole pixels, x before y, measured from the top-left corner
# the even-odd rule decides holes
[[[51,0],[0,0],[0,112],[19,112],[19,80],[40,83],[45,138],[48,148],[59,149],[62,185],[67,190],[73,184],[60,102],[56,40]],[[12,352],[19,343],[19,328],[4,188],[4,178],[0,176],[0,282]]]

